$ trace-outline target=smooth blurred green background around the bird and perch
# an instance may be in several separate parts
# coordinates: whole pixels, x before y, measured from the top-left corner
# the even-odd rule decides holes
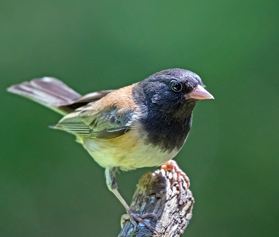
[[[197,73],[199,101],[176,156],[191,180],[183,236],[278,236],[279,2],[0,2],[0,236],[117,236],[121,203],[61,117],[9,94],[52,76],[81,94],[168,68]],[[128,203],[154,168],[118,174]]]

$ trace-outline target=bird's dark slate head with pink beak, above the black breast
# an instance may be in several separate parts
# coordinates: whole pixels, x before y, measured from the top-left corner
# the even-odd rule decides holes
[[[143,90],[140,92],[140,89]],[[204,89],[201,78],[185,69],[167,69],[155,73],[137,84],[135,91],[144,97],[148,107],[157,108],[164,114],[181,118],[191,113],[197,100],[214,99]]]

